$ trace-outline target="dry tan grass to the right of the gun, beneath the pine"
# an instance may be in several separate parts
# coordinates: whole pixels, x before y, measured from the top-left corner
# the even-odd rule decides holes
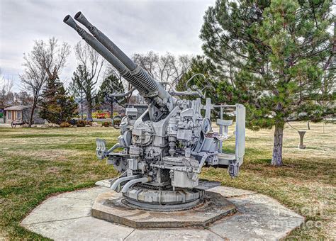
[[[307,130],[306,123],[292,123]],[[336,211],[336,125],[310,123],[304,138],[306,149],[299,150],[299,135],[289,125],[284,130],[284,167],[271,167],[273,130],[247,130],[245,162],[240,176],[230,179],[223,169],[204,169],[204,178],[223,185],[258,191],[306,216],[306,224],[289,235],[289,239],[335,239]],[[232,130],[232,129],[231,129]],[[233,150],[229,140],[225,150]]]

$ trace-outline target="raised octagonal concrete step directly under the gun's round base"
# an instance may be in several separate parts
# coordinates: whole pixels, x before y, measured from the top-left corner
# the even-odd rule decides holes
[[[122,195],[115,191],[99,194],[91,215],[131,228],[186,228],[204,227],[236,212],[233,203],[212,191],[206,191],[203,203],[185,211],[145,211],[130,208],[122,200]]]

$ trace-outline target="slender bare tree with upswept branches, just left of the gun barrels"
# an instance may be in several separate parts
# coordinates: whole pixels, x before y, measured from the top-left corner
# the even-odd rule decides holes
[[[87,43],[77,43],[74,51],[82,66],[82,71],[85,74],[77,76],[77,84],[84,91],[87,103],[87,120],[92,121],[92,108],[94,106],[94,99],[96,98],[96,84],[103,68],[104,59],[96,50],[90,47]]]

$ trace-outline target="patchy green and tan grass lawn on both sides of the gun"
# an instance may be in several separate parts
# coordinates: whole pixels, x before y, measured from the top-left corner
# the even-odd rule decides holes
[[[293,124],[306,129],[306,123]],[[225,169],[203,168],[202,178],[267,194],[306,216],[306,224],[289,238],[336,238],[336,125],[310,124],[306,150],[298,150],[298,133],[286,126],[284,167],[271,167],[272,130],[247,130],[245,162],[236,179]],[[232,130],[232,129],[231,129]],[[55,193],[94,186],[115,176],[99,162],[95,139],[116,142],[113,128],[0,128],[0,240],[43,239],[21,228],[20,221]],[[225,144],[233,150],[234,139]]]

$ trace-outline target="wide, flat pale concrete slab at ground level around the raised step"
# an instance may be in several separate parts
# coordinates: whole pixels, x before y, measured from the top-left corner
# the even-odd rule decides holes
[[[22,220],[21,225],[53,240],[212,241],[279,240],[304,222],[301,215],[273,198],[254,191],[225,186],[208,191],[220,194],[234,203],[237,213],[226,215],[206,228],[130,228],[91,217],[91,208],[97,196],[108,196],[108,192],[111,193],[106,187],[94,187],[47,198]],[[167,215],[172,220],[176,219],[174,212]]]

